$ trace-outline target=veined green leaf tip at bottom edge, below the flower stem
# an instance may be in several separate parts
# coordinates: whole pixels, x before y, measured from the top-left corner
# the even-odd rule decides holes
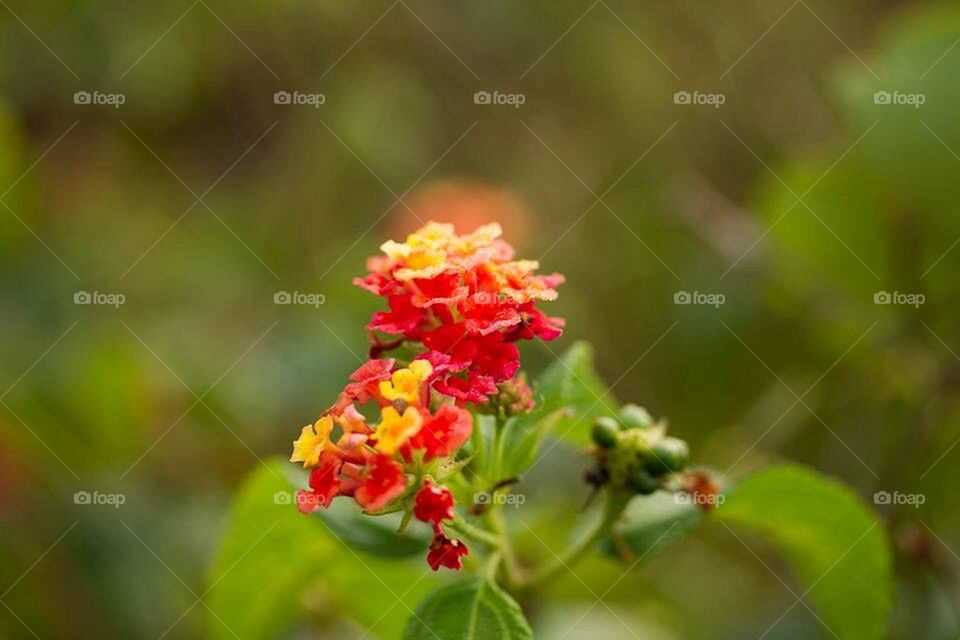
[[[437,589],[407,623],[403,640],[532,640],[520,606],[483,578]]]

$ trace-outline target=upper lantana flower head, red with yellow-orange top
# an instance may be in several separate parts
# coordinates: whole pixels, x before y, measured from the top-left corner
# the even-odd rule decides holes
[[[386,298],[371,332],[399,341],[372,340],[371,353],[402,342],[422,344],[434,367],[431,386],[461,403],[481,403],[520,367],[518,340],[553,340],[563,320],[536,304],[554,300],[559,274],[539,275],[534,260],[513,260],[500,225],[458,235],[452,225],[427,223],[404,242],[388,241],[367,263],[358,286]]]

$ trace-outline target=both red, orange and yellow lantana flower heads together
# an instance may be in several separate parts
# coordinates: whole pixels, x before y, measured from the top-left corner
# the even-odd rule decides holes
[[[297,494],[300,511],[349,496],[371,514],[410,512],[433,527],[427,562],[434,570],[460,569],[468,553],[447,536],[455,500],[436,482],[456,468],[451,463],[470,438],[468,409],[526,387],[516,342],[552,340],[563,327],[536,307],[557,297],[563,277],[537,275],[535,261],[514,260],[500,235],[497,224],[457,235],[452,225],[430,222],[404,243],[382,245],[384,255],[355,280],[389,307],[367,325],[370,359],[334,405],[303,427],[290,458],[310,469],[310,489]],[[415,354],[409,362],[382,357],[401,345]]]

